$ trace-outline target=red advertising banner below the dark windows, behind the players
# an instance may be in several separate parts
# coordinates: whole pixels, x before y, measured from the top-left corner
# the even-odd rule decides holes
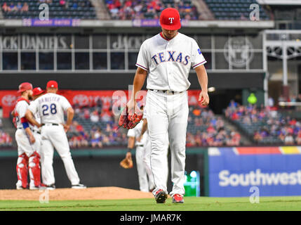
[[[73,90],[59,90],[58,94],[65,96],[68,101],[74,105],[79,106],[93,106],[97,101],[102,101],[103,108],[112,108],[115,106],[124,107],[128,102],[128,90],[116,91],[73,91]],[[199,103],[199,90],[188,91],[189,105],[196,105]],[[140,103],[145,103],[145,96],[147,91],[140,91],[138,99]],[[14,91],[0,91],[0,107],[3,109],[3,117],[9,117],[11,111],[15,107],[15,101],[20,97],[17,90]]]

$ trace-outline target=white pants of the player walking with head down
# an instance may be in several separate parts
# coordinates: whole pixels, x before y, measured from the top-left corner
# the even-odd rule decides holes
[[[166,177],[162,169],[166,162],[164,141],[168,132],[171,154],[171,181],[173,190],[170,196],[185,194],[185,145],[188,120],[187,91],[180,94],[163,94],[156,91],[147,92],[146,100],[147,127],[151,141],[151,168],[156,188],[167,192]]]

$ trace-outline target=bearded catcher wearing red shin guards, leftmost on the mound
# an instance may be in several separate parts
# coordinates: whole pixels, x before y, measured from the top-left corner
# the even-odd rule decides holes
[[[32,84],[27,82],[20,84],[18,92],[22,96],[18,99],[14,110],[17,127],[15,140],[18,144],[18,161],[16,167],[18,181],[16,188],[27,188],[27,176],[29,172],[29,189],[35,190],[41,188],[39,139],[36,139],[32,125],[29,124],[25,117],[25,113],[29,107],[29,100],[32,99]]]

